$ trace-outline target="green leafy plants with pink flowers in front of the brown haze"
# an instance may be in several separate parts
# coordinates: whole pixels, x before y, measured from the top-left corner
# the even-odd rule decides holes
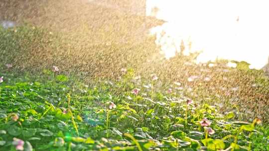
[[[219,114],[176,89],[122,70],[118,81],[85,83],[58,75],[1,73],[3,151],[250,151],[268,150],[268,128]],[[75,82],[70,82],[75,81]],[[262,138],[261,138],[262,137]]]

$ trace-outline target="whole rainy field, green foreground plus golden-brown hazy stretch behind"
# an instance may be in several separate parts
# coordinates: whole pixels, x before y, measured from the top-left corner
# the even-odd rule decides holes
[[[163,60],[152,37],[0,35],[0,151],[269,150],[269,78],[244,62]]]

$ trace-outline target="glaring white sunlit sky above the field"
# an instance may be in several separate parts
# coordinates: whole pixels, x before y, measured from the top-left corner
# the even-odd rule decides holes
[[[178,48],[183,39],[192,42],[191,51],[203,50],[198,62],[218,57],[261,69],[269,57],[268,6],[268,0],[147,0],[146,12],[158,7],[156,17],[167,21],[152,29],[167,58],[176,51],[171,45]]]

